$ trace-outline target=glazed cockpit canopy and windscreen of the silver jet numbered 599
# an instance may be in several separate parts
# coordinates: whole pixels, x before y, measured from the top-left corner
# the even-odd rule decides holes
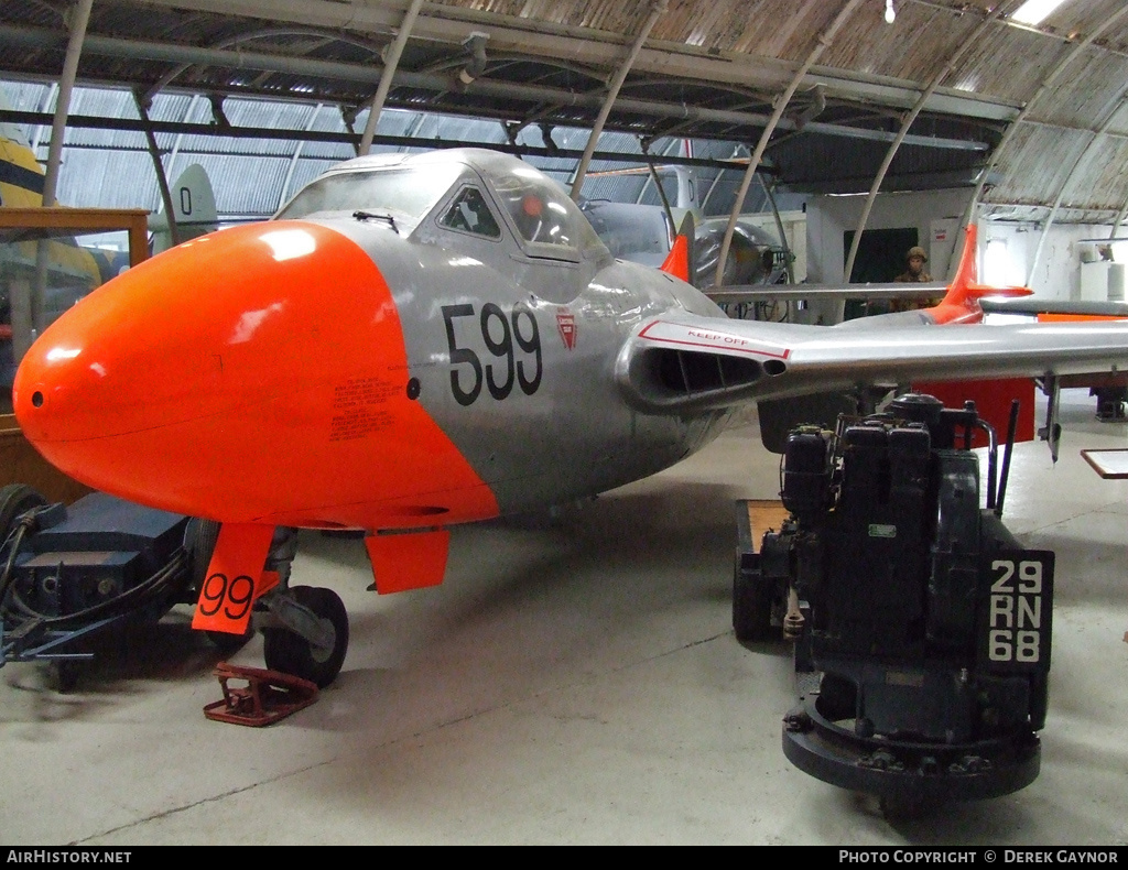
[[[488,193],[467,197],[464,192],[448,203],[448,192],[468,184]],[[363,212],[368,218],[390,218],[414,229],[440,203],[441,226],[500,238],[501,225],[508,223],[529,256],[579,260],[608,255],[559,184],[515,157],[477,148],[347,160],[303,187],[274,217]]]

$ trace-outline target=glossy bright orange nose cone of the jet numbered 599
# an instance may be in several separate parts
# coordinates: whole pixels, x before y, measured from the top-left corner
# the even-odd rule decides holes
[[[36,448],[95,489],[223,521],[376,526],[363,502],[409,495],[415,451],[452,450],[407,381],[372,258],[277,221],[96,290],[35,342],[12,398]]]

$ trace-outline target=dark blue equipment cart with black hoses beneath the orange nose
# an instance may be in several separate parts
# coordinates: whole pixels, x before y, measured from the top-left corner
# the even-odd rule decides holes
[[[187,525],[100,492],[64,507],[29,486],[0,490],[0,667],[89,659],[88,635],[194,600]]]

